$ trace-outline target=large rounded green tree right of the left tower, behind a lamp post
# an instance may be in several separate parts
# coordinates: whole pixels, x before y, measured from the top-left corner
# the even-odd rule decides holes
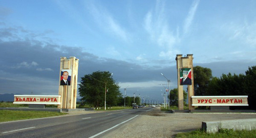
[[[81,101],[91,104],[93,107],[104,106],[105,90],[106,105],[116,106],[121,97],[118,83],[114,81],[110,72],[94,72],[84,75],[79,84]]]

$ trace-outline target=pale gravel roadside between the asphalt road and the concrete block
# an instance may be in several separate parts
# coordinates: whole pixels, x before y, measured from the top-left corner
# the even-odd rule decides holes
[[[201,128],[204,121],[256,118],[246,113],[165,113],[160,107],[146,112],[135,119],[106,132],[101,137],[173,137],[180,132]]]

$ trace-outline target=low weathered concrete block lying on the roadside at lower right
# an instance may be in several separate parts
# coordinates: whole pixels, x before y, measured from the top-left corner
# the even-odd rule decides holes
[[[221,128],[233,130],[253,130],[256,129],[256,119],[202,122],[202,129],[208,133],[218,132],[218,130]]]

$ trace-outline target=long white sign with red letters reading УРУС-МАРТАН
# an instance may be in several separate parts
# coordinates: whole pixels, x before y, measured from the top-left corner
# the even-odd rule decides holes
[[[192,96],[192,106],[248,106],[248,96]]]

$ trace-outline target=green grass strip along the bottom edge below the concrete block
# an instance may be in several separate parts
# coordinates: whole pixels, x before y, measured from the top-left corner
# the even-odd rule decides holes
[[[220,129],[217,133],[206,133],[203,130],[196,130],[187,133],[178,133],[176,138],[191,137],[191,138],[220,138],[220,137],[256,137],[256,130],[232,130],[232,129]]]

